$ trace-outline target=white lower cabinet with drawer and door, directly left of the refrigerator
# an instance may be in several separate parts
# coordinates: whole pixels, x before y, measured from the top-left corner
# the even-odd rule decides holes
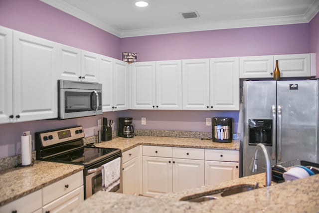
[[[205,185],[239,178],[239,151],[205,150]]]

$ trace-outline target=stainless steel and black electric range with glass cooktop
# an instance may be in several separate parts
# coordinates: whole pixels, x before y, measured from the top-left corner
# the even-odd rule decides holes
[[[86,199],[102,190],[102,165],[120,158],[121,150],[84,146],[83,138],[82,126],[37,132],[35,148],[37,160],[83,165]]]

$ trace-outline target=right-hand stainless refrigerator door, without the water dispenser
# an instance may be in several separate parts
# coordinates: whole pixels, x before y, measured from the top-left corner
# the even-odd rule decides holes
[[[317,162],[318,81],[278,81],[277,114],[277,163]]]

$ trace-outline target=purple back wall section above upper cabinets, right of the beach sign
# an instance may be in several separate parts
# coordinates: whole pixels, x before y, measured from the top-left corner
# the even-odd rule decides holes
[[[222,29],[121,39],[138,61],[308,53],[309,24]]]

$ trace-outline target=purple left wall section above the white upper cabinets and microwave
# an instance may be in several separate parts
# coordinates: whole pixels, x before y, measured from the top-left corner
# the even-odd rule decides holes
[[[0,25],[120,59],[120,38],[39,0],[0,0]]]

